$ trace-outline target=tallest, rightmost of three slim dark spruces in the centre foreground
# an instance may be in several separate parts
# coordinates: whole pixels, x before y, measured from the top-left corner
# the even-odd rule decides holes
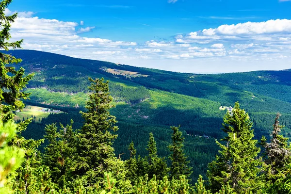
[[[172,154],[169,156],[171,160],[171,178],[179,178],[182,175],[189,177],[192,171],[189,167],[190,161],[187,161],[187,156],[184,153],[184,137],[182,137],[182,132],[179,130],[180,127],[171,127],[172,133],[172,145],[168,146]]]

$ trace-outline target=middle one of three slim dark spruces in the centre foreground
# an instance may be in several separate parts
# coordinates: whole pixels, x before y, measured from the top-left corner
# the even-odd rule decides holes
[[[169,172],[165,158],[158,157],[157,143],[153,133],[149,133],[149,141],[146,150],[148,151],[148,178],[162,179]]]

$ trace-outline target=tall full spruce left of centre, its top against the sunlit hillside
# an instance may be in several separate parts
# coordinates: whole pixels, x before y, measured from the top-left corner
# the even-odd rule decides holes
[[[110,168],[109,160],[115,158],[112,144],[117,135],[111,131],[118,128],[114,126],[115,117],[109,113],[113,97],[109,93],[108,81],[104,82],[103,78],[89,78],[89,81],[92,93],[86,102],[88,111],[81,112],[85,123],[79,135],[75,173],[92,184],[103,178],[103,173]]]

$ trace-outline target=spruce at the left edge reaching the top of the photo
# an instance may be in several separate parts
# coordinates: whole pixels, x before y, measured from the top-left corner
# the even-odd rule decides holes
[[[0,1],[0,49],[8,50],[19,49],[23,40],[16,42],[8,42],[10,35],[11,23],[17,17],[17,14],[5,16],[5,9],[12,0]],[[32,74],[24,76],[24,68],[20,67],[17,71],[15,67],[9,64],[18,64],[21,59],[16,59],[10,54],[0,52],[0,118],[4,122],[13,119],[12,111],[22,110],[24,103],[20,100],[27,99],[30,94],[22,92],[28,81],[33,77]],[[5,102],[5,104],[3,104]]]

